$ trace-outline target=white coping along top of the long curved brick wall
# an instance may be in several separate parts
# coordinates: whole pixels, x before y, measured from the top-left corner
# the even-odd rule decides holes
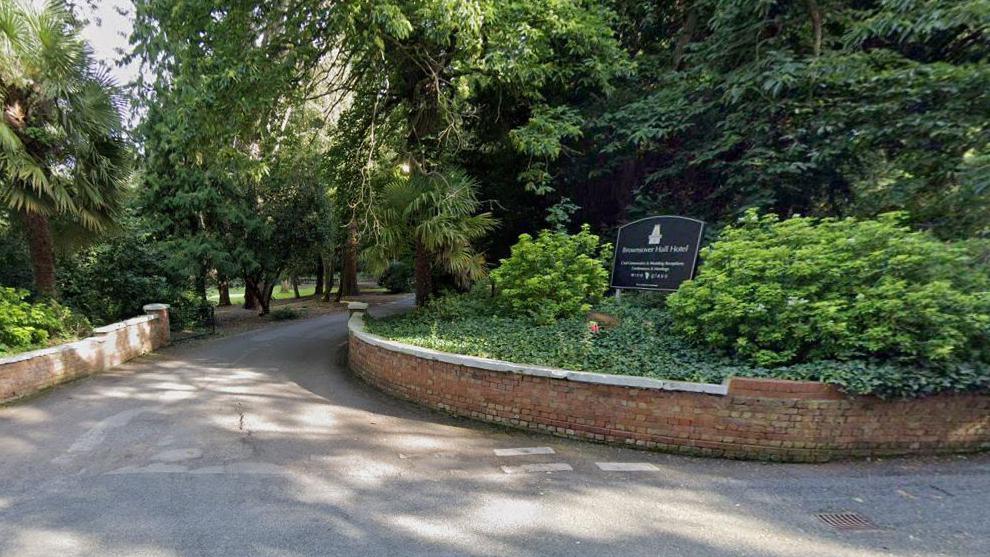
[[[729,393],[728,385],[715,385],[712,383],[691,383],[688,381],[667,381],[665,379],[651,379],[649,377],[634,377],[631,375],[612,375],[608,373],[592,373],[589,371],[571,371],[569,369],[559,369],[553,367],[520,365],[503,360],[493,360],[490,358],[479,358],[477,356],[464,356],[461,354],[451,354],[440,352],[429,348],[421,348],[411,344],[404,344],[394,340],[388,340],[377,335],[368,333],[364,329],[364,312],[357,311],[347,321],[347,328],[352,335],[359,340],[378,346],[393,352],[401,352],[423,358],[426,360],[436,360],[448,364],[455,364],[490,371],[502,371],[507,373],[518,373],[520,375],[532,375],[536,377],[550,377],[552,379],[563,379],[566,381],[577,381],[580,383],[595,383],[599,385],[615,385],[619,387],[633,387],[636,389],[657,389],[661,391],[686,391],[692,393],[703,393],[708,395],[725,396]]]

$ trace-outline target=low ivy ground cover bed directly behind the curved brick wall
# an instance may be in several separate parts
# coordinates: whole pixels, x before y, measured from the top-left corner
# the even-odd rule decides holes
[[[369,320],[368,330],[457,354],[677,381],[722,383],[733,376],[823,381],[852,394],[881,397],[990,389],[990,364],[978,362],[939,368],[875,360],[754,366],[689,342],[675,331],[663,308],[642,305],[640,298],[630,293],[621,304],[606,301],[596,307],[619,321],[597,332],[580,317],[546,324],[506,317],[482,288],[435,300],[411,313]]]

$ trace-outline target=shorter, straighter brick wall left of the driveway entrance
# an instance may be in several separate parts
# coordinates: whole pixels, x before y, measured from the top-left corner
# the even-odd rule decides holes
[[[149,305],[145,310],[145,316],[99,327],[93,336],[77,342],[0,358],[0,403],[110,369],[167,345],[168,306]]]

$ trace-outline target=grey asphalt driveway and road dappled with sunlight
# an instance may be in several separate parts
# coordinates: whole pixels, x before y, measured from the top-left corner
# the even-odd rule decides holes
[[[372,308],[396,311],[407,301]],[[990,458],[774,465],[455,419],[346,369],[344,314],[0,408],[3,556],[983,556]],[[821,513],[856,513],[836,529]]]

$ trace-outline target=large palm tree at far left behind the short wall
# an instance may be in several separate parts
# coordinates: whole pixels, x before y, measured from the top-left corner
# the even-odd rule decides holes
[[[129,155],[121,94],[71,11],[0,0],[0,207],[27,232],[35,288],[55,295],[49,219],[99,231],[120,209]]]

